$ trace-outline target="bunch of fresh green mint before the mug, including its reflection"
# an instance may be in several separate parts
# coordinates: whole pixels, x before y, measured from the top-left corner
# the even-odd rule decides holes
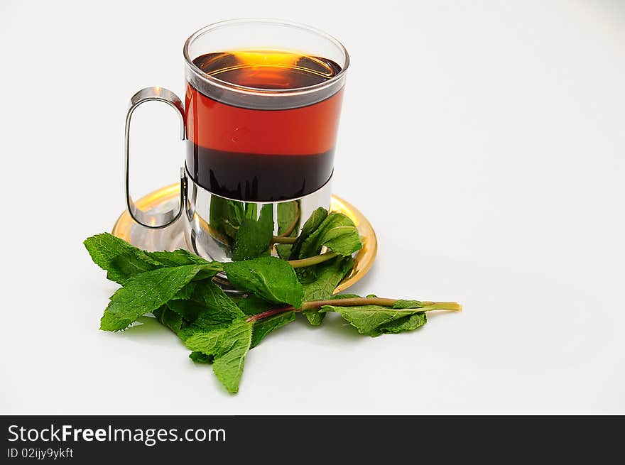
[[[215,214],[219,222],[212,227],[232,244],[238,241],[249,258],[217,263],[183,250],[142,251],[111,234],[85,240],[94,263],[122,285],[104,310],[100,329],[121,331],[153,314],[183,340],[192,361],[212,364],[225,388],[237,393],[248,351],[298,313],[319,325],[325,314],[335,312],[360,334],[377,337],[422,327],[431,310],[461,310],[455,302],[332,295],[352,270],[352,253],[362,247],[356,226],[342,214],[317,209],[297,235],[299,207],[293,204],[278,212],[281,227],[278,236],[270,236],[268,212],[263,216],[261,209],[256,219],[255,211],[228,202],[217,207],[233,218]],[[246,224],[254,226],[246,229]],[[253,232],[257,227],[262,234]],[[271,244],[284,246],[280,255],[289,260],[259,257]],[[217,273],[245,296],[227,295],[212,281]]]

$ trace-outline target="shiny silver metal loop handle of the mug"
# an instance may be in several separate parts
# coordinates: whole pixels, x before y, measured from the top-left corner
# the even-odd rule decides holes
[[[146,226],[146,228],[151,229],[161,229],[172,224],[180,217],[180,214],[182,214],[185,204],[187,177],[185,176],[185,170],[180,168],[180,206],[178,209],[170,209],[168,212],[161,213],[147,213],[139,209],[130,197],[130,120],[136,107],[150,100],[165,102],[173,109],[177,110],[176,112],[180,116],[180,138],[183,141],[185,140],[185,108],[183,102],[178,98],[178,95],[170,90],[163,89],[163,87],[146,87],[146,89],[141,89],[132,96],[130,106],[128,107],[128,113],[126,114],[126,207],[132,219],[138,224],[141,224],[141,226]]]

